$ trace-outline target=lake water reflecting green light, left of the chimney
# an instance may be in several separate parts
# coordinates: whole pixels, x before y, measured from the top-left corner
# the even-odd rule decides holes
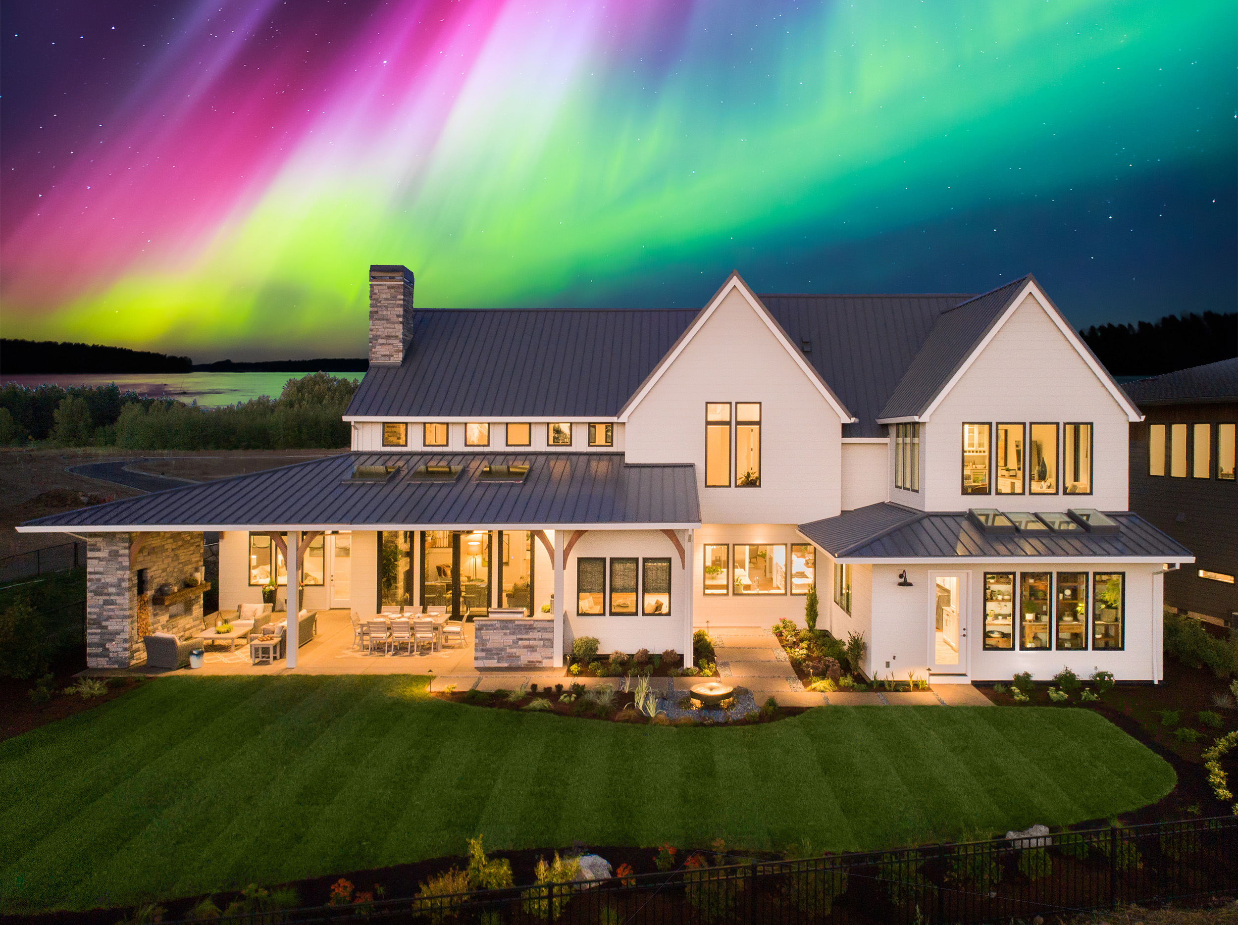
[[[301,379],[310,373],[151,373],[147,375],[4,375],[0,384],[42,385],[51,383],[68,388],[71,385],[110,385],[115,383],[121,391],[136,391],[152,399],[176,399],[177,401],[197,401],[203,407],[235,405],[261,395],[279,397],[288,379]],[[331,375],[358,383],[364,373],[332,373]]]

